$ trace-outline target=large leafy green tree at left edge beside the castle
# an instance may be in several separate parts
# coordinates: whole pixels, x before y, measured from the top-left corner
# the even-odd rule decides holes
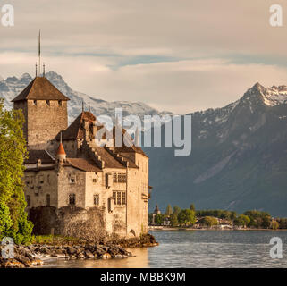
[[[27,156],[23,122],[21,111],[4,110],[0,100],[0,239],[9,236],[17,244],[30,241],[33,227],[21,182]]]

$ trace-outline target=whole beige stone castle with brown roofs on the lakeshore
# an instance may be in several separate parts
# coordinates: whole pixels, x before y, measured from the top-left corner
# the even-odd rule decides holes
[[[68,126],[68,100],[45,76],[13,99],[25,118],[23,180],[34,232],[139,237],[148,231],[148,156],[118,125],[112,138],[119,131],[131,144],[99,147],[95,138],[103,126],[90,111]]]

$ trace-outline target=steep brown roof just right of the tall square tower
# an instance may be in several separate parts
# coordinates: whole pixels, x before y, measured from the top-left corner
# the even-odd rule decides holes
[[[72,139],[84,139],[84,128],[82,122],[86,120],[91,124],[96,120],[94,114],[90,112],[82,112],[71,124],[70,126],[62,131],[63,140],[72,140]],[[57,140],[60,140],[60,133],[56,136]]]

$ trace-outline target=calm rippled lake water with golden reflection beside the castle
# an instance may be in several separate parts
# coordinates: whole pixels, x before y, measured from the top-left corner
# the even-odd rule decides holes
[[[62,259],[44,267],[287,267],[287,231],[150,231],[155,248],[130,248],[136,257],[109,260]],[[272,237],[283,241],[283,258],[272,259]],[[43,267],[42,266],[42,267]]]

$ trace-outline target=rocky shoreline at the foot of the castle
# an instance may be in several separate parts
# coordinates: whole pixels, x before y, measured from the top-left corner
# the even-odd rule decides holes
[[[125,248],[154,247],[158,245],[155,238],[148,234],[140,239],[111,240],[106,243],[74,243],[66,244],[31,244],[14,245],[13,259],[0,257],[0,267],[22,268],[43,265],[47,258],[70,259],[110,259],[132,257]],[[4,246],[0,246],[2,251]]]

